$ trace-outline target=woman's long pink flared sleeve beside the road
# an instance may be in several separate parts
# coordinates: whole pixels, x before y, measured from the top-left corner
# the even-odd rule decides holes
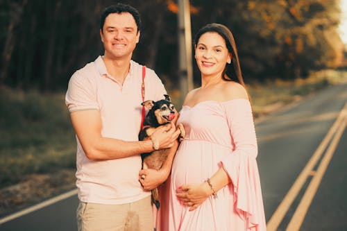
[[[246,221],[247,230],[266,230],[251,104],[236,99],[226,103],[224,109],[234,149],[221,164],[232,180],[233,206]]]

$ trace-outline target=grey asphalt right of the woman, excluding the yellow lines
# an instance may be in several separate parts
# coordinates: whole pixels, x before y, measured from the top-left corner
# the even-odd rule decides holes
[[[327,135],[339,112],[347,103],[347,84],[328,87],[296,105],[256,123],[258,164],[264,198],[266,221],[303,171],[307,162]],[[337,128],[341,127],[340,125]],[[324,149],[316,170],[330,143]],[[312,203],[304,214],[299,230],[347,230],[347,132],[337,144]],[[314,176],[308,177],[277,229],[286,230],[296,207]],[[269,225],[269,223],[268,223]],[[294,229],[289,229],[294,231]]]

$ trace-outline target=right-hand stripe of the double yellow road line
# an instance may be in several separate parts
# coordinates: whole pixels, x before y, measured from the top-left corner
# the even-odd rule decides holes
[[[301,202],[296,208],[294,215],[291,217],[291,221],[289,222],[286,231],[297,231],[301,228],[301,225],[307,214],[307,210],[310,207],[314,196],[316,195],[316,191],[319,185],[321,184],[321,180],[324,176],[324,173],[328,168],[330,160],[332,159],[332,155],[334,155],[337,145],[339,144],[339,141],[341,139],[341,136],[344,134],[346,124],[347,117],[344,118],[344,121],[339,127],[339,130],[337,131],[334,139],[332,139],[332,142],[328,150],[326,151],[323,159],[321,160],[321,163],[319,164],[315,176],[312,178],[310,185],[307,187],[305,194],[301,199]]]

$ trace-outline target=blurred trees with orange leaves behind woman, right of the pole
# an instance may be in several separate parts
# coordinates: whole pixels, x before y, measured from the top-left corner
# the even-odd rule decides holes
[[[335,68],[343,46],[337,34],[337,0],[192,1],[193,30],[226,24],[235,36],[244,74],[250,78],[298,78]]]

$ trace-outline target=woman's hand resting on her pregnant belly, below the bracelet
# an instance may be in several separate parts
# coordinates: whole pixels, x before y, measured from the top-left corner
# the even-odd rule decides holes
[[[183,185],[176,190],[178,200],[183,205],[190,207],[189,211],[200,206],[210,195],[210,187],[206,182],[202,184]]]

